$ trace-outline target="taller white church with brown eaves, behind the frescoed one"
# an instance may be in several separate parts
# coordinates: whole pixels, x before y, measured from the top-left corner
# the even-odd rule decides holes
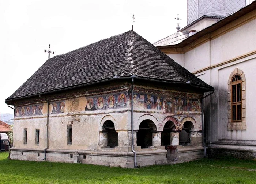
[[[256,158],[256,1],[187,5],[188,25],[154,45],[215,89],[203,99],[208,156]]]

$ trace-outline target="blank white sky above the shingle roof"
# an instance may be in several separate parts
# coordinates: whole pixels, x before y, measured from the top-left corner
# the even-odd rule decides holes
[[[187,0],[0,0],[0,113],[5,99],[54,55],[133,30],[151,43],[187,23]]]

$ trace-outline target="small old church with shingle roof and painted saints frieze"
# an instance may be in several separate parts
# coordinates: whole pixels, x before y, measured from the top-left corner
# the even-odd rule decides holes
[[[6,99],[10,158],[125,168],[203,158],[212,90],[133,30],[101,40],[48,59]]]

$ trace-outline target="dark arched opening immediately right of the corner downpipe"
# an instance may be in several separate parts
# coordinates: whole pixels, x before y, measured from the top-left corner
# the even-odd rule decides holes
[[[152,132],[156,130],[157,127],[152,120],[143,120],[137,132],[137,145],[141,148],[152,146]]]

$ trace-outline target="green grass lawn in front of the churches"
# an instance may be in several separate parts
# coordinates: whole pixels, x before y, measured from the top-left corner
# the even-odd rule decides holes
[[[138,169],[98,165],[7,160],[0,153],[0,183],[171,183],[256,184],[256,161],[233,158],[202,159]]]

